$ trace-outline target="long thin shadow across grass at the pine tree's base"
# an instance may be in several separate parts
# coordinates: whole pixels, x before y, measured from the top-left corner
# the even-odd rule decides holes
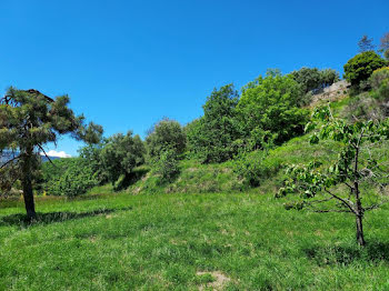
[[[118,209],[97,209],[88,212],[47,212],[47,213],[37,213],[37,219],[29,221],[26,214],[10,214],[7,217],[0,217],[0,227],[11,227],[18,225],[22,228],[28,228],[36,224],[50,224],[54,222],[63,222],[68,220],[82,219],[102,214],[109,214],[116,211],[126,211],[131,210],[132,207],[128,208],[118,208]]]

